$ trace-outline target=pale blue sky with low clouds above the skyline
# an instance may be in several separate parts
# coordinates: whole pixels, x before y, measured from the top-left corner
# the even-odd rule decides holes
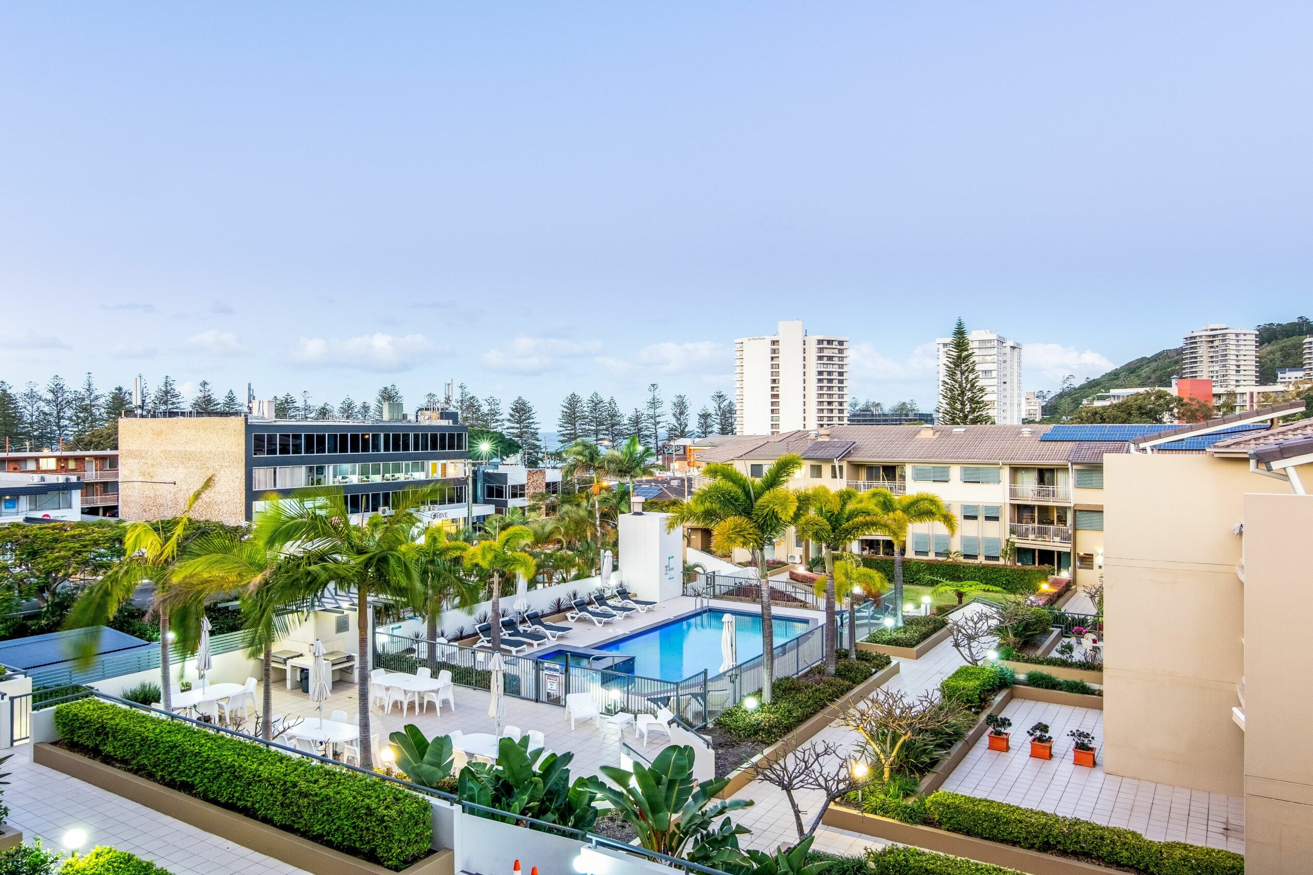
[[[1305,3],[0,12],[0,379],[731,391],[779,319],[934,395],[1309,314]]]

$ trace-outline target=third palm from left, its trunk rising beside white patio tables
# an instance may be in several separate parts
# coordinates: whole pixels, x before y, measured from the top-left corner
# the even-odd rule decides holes
[[[353,523],[341,489],[312,487],[270,502],[260,522],[270,544],[306,554],[306,571],[319,592],[330,588],[355,592],[360,767],[366,771],[374,765],[369,746],[370,598],[424,606],[420,546],[415,543],[421,525],[418,508],[437,499],[436,484],[402,489],[393,493],[391,514],[372,514]]]

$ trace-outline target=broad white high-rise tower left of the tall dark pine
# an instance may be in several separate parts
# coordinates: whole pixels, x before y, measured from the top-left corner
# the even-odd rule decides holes
[[[844,425],[848,338],[781,321],[775,335],[735,340],[734,403],[739,434]]]

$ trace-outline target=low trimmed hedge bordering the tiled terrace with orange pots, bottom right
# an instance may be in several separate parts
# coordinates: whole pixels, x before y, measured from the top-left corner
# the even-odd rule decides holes
[[[1120,826],[1022,808],[943,790],[926,800],[934,821],[962,836],[1123,866],[1146,875],[1241,875],[1239,854],[1184,842],[1155,842]]]

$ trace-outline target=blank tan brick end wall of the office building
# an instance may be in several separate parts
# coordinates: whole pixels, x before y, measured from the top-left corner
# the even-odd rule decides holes
[[[118,516],[165,519],[210,475],[193,516],[246,521],[246,420],[240,416],[118,421]]]

